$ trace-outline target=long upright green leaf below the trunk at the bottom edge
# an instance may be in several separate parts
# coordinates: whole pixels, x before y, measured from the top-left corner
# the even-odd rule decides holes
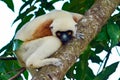
[[[85,80],[86,74],[87,74],[87,69],[88,69],[88,59],[90,56],[89,53],[89,47],[87,50],[84,51],[82,55],[80,55],[80,61],[76,63],[76,74],[75,78],[76,80]],[[81,72],[81,73],[80,73]]]

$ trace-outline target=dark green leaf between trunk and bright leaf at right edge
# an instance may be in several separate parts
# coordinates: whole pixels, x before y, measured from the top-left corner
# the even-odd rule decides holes
[[[95,53],[100,53],[103,50],[109,50],[108,41],[110,40],[109,35],[107,33],[107,25],[105,25],[101,32],[95,37],[94,40],[91,41],[90,45],[92,48],[95,48]]]

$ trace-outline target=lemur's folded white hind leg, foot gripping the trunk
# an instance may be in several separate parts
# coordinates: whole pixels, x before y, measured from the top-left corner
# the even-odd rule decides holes
[[[31,45],[31,47],[37,46],[37,49],[27,58],[25,62],[27,67],[39,68],[49,64],[56,66],[60,64],[60,59],[48,58],[61,46],[61,42],[58,38],[53,36],[44,37],[43,41],[38,39],[36,43],[37,45]],[[39,45],[39,43],[41,44]]]

